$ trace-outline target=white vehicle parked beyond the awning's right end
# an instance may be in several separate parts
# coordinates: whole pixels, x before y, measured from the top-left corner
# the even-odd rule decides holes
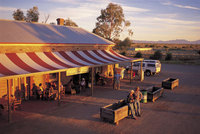
[[[140,65],[140,62],[134,62],[133,70],[140,70]],[[128,68],[130,69],[130,66]],[[161,71],[161,63],[159,60],[144,60],[142,68],[146,76],[158,74]]]

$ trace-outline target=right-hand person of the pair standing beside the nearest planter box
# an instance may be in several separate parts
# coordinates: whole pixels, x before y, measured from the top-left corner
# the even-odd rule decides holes
[[[135,111],[136,111],[136,115],[141,117],[141,111],[140,111],[140,101],[143,97],[142,93],[140,92],[140,88],[137,87],[136,88],[136,91],[135,91]]]

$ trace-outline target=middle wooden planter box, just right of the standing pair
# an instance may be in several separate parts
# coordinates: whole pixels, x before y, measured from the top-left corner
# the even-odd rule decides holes
[[[164,89],[162,87],[150,87],[147,89],[147,99],[154,102],[163,95]]]

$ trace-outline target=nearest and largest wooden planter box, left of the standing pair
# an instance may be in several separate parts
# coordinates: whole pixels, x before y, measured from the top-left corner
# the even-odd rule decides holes
[[[119,121],[128,116],[128,105],[125,100],[100,108],[100,118],[118,125]]]

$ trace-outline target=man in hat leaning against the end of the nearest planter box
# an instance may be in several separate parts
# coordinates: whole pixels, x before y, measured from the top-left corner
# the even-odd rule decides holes
[[[134,90],[131,90],[129,95],[127,96],[127,103],[128,103],[128,107],[131,110],[131,117],[135,120],[137,120],[136,116],[135,116],[135,94],[134,94]]]

